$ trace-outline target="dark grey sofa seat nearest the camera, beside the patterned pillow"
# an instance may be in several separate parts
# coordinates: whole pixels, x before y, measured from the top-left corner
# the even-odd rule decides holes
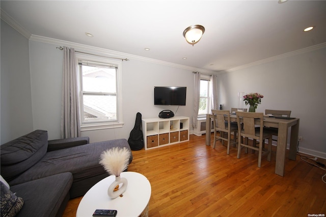
[[[16,217],[22,216],[61,216],[58,211],[66,207],[69,189],[72,184],[71,173],[61,173],[42,179],[11,185],[11,190],[25,201]]]

